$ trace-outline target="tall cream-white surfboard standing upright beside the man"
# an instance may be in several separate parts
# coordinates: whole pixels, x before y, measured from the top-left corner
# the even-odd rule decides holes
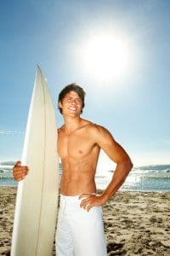
[[[31,96],[18,184],[12,256],[52,255],[58,205],[57,125],[52,97],[40,67]]]

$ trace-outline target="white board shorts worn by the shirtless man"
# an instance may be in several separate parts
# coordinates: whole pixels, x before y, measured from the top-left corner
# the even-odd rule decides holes
[[[89,212],[80,207],[77,196],[60,196],[56,231],[57,256],[106,256],[102,207]]]

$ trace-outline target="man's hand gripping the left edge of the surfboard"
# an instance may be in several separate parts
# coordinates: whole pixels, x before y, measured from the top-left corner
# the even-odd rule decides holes
[[[21,181],[28,173],[28,166],[21,166],[21,162],[17,161],[13,167],[13,176],[16,181]]]

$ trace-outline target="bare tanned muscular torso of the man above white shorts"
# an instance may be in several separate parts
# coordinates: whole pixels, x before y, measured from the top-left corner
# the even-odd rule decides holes
[[[58,152],[62,162],[61,193],[81,195],[95,193],[94,175],[99,158],[99,146],[94,142],[96,125],[84,120],[70,134],[64,126],[59,129]]]

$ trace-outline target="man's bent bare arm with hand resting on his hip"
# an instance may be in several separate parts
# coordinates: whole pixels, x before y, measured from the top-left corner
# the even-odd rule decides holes
[[[102,195],[88,195],[86,199],[82,200],[81,207],[86,208],[88,211],[91,207],[104,205],[106,201],[110,200],[111,196],[122,186],[133,167],[127,152],[119,143],[116,143],[111,133],[104,127],[97,126],[93,131],[93,137],[99,147],[116,163],[116,170],[111,183],[109,183]],[[82,197],[84,196],[81,195],[80,198]]]

